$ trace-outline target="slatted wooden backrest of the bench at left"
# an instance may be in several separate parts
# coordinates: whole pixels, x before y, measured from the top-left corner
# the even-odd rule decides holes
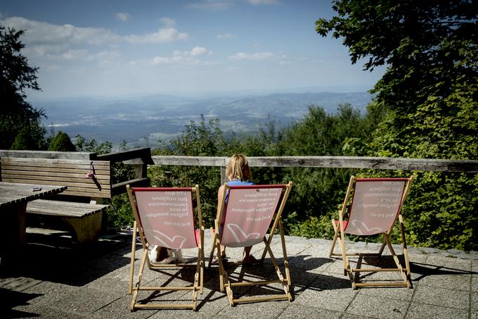
[[[86,177],[90,167],[92,178]],[[61,195],[111,198],[109,161],[2,157],[1,180],[67,186]]]

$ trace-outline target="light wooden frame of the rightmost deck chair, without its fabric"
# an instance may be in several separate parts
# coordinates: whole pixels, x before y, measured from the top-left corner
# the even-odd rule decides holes
[[[405,182],[403,184],[403,191],[401,192],[400,200],[398,207],[396,208],[396,215],[393,220],[392,225],[389,229],[385,230],[384,232],[377,232],[377,234],[382,234],[382,246],[377,253],[347,253],[347,247],[344,240],[344,233],[347,233],[347,226],[350,220],[351,215],[354,213],[351,211],[351,202],[354,201],[355,195],[355,188],[357,182],[366,182],[366,181],[378,181],[378,182]],[[403,226],[403,217],[401,215],[401,208],[403,206],[403,202],[410,191],[411,183],[413,181],[413,176],[408,178],[399,178],[399,177],[390,177],[390,178],[356,178],[351,176],[349,181],[349,186],[347,188],[347,194],[345,195],[344,203],[342,204],[342,209],[339,213],[339,219],[335,220],[332,219],[332,225],[335,230],[335,235],[332,240],[332,246],[330,247],[330,254],[329,257],[332,256],[342,256],[342,260],[344,263],[344,275],[349,275],[349,279],[351,282],[352,289],[356,289],[358,287],[408,287],[411,288],[411,280],[410,280],[410,260],[408,258],[408,249],[406,245],[406,238],[405,238],[405,227]],[[347,213],[347,208],[349,208],[349,219],[346,221],[344,220],[344,215]],[[396,256],[394,248],[390,243],[389,237],[392,234],[392,230],[396,221],[399,221],[399,231],[401,234],[401,244],[403,247],[403,257],[405,259],[405,268],[401,265],[399,258]],[[340,253],[337,254],[334,252],[335,243],[338,243],[340,246]],[[396,264],[396,268],[351,268],[349,256],[356,256],[357,258],[362,258],[363,256],[377,256],[380,258],[382,253],[385,249],[385,246],[389,248],[390,253],[394,259],[394,263]],[[360,265],[360,264],[359,264]],[[402,280],[395,281],[395,282],[359,282],[359,273],[375,273],[375,272],[399,272]]]

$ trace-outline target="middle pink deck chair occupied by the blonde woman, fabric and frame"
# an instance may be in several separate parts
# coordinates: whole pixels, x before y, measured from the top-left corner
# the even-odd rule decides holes
[[[211,265],[214,251],[217,251],[217,258],[219,261],[219,282],[221,292],[228,296],[229,304],[234,306],[238,303],[249,303],[254,301],[267,300],[289,300],[292,301],[290,294],[290,270],[288,264],[287,251],[285,249],[285,239],[283,232],[283,225],[281,221],[281,214],[283,212],[285,202],[288,199],[292,182],[289,184],[278,185],[252,185],[252,186],[228,186],[225,184],[224,193],[222,194],[221,205],[218,208],[219,215],[214,220],[216,230],[222,227],[222,232],[216,232],[212,229],[212,247],[209,255],[209,266]],[[228,196],[227,203],[225,203],[226,196]],[[224,215],[224,218],[223,218]],[[220,225],[220,220],[224,219],[224,225]],[[282,251],[284,257],[285,277],[280,272],[279,265],[271,250],[271,241],[279,226],[280,240],[282,244]],[[270,231],[269,231],[270,230]],[[269,237],[266,238],[266,233],[269,231]],[[228,273],[224,268],[221,260],[220,245],[227,247],[246,247],[254,244],[264,242],[264,248],[260,262],[264,261],[266,254],[269,254],[271,262],[276,268],[278,276],[277,280],[262,280],[256,282],[231,282]],[[283,294],[274,294],[271,296],[262,297],[243,297],[235,299],[233,296],[233,287],[237,286],[252,286],[252,285],[266,285],[271,283],[280,283],[283,286]]]

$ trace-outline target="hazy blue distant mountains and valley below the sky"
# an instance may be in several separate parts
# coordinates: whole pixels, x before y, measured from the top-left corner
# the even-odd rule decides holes
[[[43,108],[48,118],[44,125],[54,125],[72,139],[82,135],[87,140],[131,146],[155,146],[158,139],[168,141],[181,134],[190,120],[219,118],[224,132],[257,132],[270,118],[276,124],[290,125],[301,120],[310,105],[322,106],[335,113],[337,106],[349,103],[365,113],[372,96],[366,92],[283,93],[254,96],[181,97],[150,95],[125,99],[69,99],[32,101]]]

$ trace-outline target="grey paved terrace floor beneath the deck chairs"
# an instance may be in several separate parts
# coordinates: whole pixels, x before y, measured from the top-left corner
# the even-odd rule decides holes
[[[13,266],[0,265],[1,318],[478,318],[478,253],[409,249],[413,289],[403,287],[351,289],[343,275],[342,259],[328,258],[331,242],[325,239],[286,237],[294,300],[266,301],[231,307],[219,292],[216,267],[205,269],[204,294],[199,294],[198,311],[129,311],[127,293],[131,235],[103,236],[93,249],[69,246],[69,238],[58,234],[27,234],[29,244]],[[209,256],[209,232],[205,254]],[[349,243],[349,249],[374,250],[378,244]],[[141,245],[137,245],[138,249]],[[264,245],[254,246],[260,256]],[[283,261],[278,235],[273,251]],[[401,249],[397,247],[401,256]],[[385,250],[387,253],[387,249]],[[141,249],[136,255],[141,257]],[[183,254],[194,256],[193,251]],[[241,249],[228,249],[229,258],[240,258]],[[387,258],[384,258],[387,261]],[[137,268],[136,268],[137,269]],[[229,268],[233,277],[274,275],[271,263],[262,266]],[[174,278],[167,274],[174,275]],[[193,270],[145,270],[144,282],[188,284]],[[394,273],[375,273],[363,278],[398,278]],[[238,291],[245,295],[277,293],[278,288]],[[141,292],[138,300],[150,292]],[[156,294],[157,299],[189,302],[191,292]]]

